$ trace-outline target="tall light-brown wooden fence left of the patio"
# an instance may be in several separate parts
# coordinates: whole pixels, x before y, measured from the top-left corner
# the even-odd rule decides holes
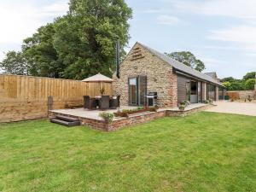
[[[0,122],[47,117],[49,96],[53,109],[82,106],[83,96],[99,96],[102,88],[112,96],[111,83],[0,75]]]

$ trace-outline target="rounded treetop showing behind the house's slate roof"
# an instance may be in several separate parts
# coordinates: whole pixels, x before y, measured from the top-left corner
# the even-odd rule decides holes
[[[195,55],[189,51],[173,52],[166,55],[172,57],[174,60],[182,62],[189,67],[194,68],[197,71],[201,72],[206,69],[205,64],[201,60],[196,59]]]

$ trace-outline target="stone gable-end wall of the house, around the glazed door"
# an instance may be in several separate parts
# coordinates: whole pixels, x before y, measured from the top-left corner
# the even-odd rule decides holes
[[[113,93],[121,96],[121,105],[128,105],[128,78],[143,75],[147,76],[147,91],[158,93],[157,104],[161,108],[177,106],[177,75],[141,44],[134,45],[119,68],[120,79],[113,75]]]

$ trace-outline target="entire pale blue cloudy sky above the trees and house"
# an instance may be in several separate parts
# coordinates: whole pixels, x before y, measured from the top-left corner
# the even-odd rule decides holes
[[[133,9],[129,47],[189,50],[219,78],[256,71],[255,0],[126,0]],[[0,0],[0,60],[23,38],[67,11],[67,1]],[[127,48],[129,49],[129,48]]]

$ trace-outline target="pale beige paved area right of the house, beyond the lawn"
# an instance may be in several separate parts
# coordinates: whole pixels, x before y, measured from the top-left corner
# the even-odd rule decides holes
[[[235,113],[256,116],[255,102],[215,102],[217,105],[213,108],[208,108],[208,112],[217,113]]]

